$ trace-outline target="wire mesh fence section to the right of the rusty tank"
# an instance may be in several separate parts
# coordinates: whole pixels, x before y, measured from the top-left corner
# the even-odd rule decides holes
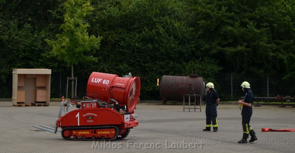
[[[286,97],[295,96],[295,81],[293,78],[284,79],[284,74],[216,74],[215,89],[218,92],[220,101],[237,101],[245,93],[241,84],[244,81],[250,83],[255,97]],[[216,85],[215,85],[216,84]]]

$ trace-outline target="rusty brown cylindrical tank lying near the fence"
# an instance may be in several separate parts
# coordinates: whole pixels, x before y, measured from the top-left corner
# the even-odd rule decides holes
[[[191,91],[194,91],[194,93],[191,93]],[[199,77],[199,75],[162,76],[160,81],[160,96],[162,102],[165,101],[166,103],[168,100],[183,101],[183,94],[201,95],[201,100],[203,100],[205,94],[203,78]],[[188,97],[185,98],[187,98],[185,100],[188,101]],[[192,97],[191,101],[194,101]],[[196,102],[199,104],[200,99],[196,98]]]

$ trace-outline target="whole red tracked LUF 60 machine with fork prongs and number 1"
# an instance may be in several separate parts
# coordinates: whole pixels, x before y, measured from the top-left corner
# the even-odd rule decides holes
[[[92,72],[87,83],[90,101],[62,100],[55,127],[34,126],[69,140],[114,140],[125,138],[138,126],[134,113],[140,94],[140,78]],[[75,110],[68,111],[69,106]],[[65,110],[66,108],[66,110]],[[61,116],[64,110],[65,115]],[[40,127],[41,126],[41,127]],[[61,130],[58,130],[58,127]]]

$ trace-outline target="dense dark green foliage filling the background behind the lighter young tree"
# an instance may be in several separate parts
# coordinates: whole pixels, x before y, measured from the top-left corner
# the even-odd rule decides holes
[[[62,33],[65,2],[0,0],[0,97],[9,97],[4,87],[15,68],[52,69],[52,93],[61,73],[71,76],[68,62],[56,58],[45,42]],[[97,63],[74,53],[66,58],[74,60],[74,76],[84,86],[92,71],[131,72],[140,76],[140,98],[156,100],[156,80],[163,75],[194,71],[206,81],[217,72],[295,76],[293,0],[90,2],[92,13],[79,22],[88,23],[89,37],[100,40],[97,49],[83,54]],[[85,94],[85,87],[80,91]]]

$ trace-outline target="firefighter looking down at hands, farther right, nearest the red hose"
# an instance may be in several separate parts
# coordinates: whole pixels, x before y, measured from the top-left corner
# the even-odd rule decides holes
[[[250,84],[245,81],[241,84],[242,90],[246,93],[244,100],[239,100],[238,104],[243,104],[242,108],[242,126],[243,126],[243,138],[238,141],[240,144],[248,143],[247,139],[249,137],[249,134],[251,136],[251,139],[249,142],[253,142],[257,140],[256,133],[253,130],[253,128],[250,126],[250,118],[252,116],[252,104],[254,101],[253,92],[250,88]]]

